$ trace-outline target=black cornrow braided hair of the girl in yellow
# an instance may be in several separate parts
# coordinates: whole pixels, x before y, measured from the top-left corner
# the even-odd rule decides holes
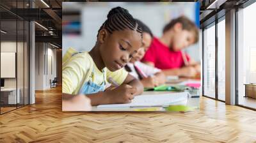
[[[121,8],[120,6],[112,8],[108,13],[108,19],[100,26],[97,37],[101,29],[106,29],[110,34],[113,31],[123,31],[124,29],[130,29],[137,31],[141,34],[142,40],[142,28],[138,22],[132,17],[128,10]]]

